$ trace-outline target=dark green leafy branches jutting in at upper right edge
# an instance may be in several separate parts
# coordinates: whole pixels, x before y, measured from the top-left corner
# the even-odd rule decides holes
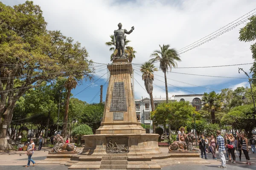
[[[244,42],[254,42],[250,45],[250,50],[252,51],[253,60],[256,60],[256,16],[250,17],[250,22],[246,24],[239,31],[239,40]],[[253,62],[253,66],[250,68],[251,73],[253,73],[252,82],[255,84],[256,80],[256,62]]]

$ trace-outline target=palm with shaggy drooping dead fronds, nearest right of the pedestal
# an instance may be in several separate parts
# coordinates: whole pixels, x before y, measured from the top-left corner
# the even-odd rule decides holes
[[[155,68],[154,64],[152,62],[145,62],[141,67],[140,71],[142,74],[142,80],[144,80],[144,85],[146,88],[146,91],[150,95],[150,101],[151,101],[151,109],[154,111],[154,101],[153,101],[153,81],[154,81],[154,71],[158,71],[157,68]]]

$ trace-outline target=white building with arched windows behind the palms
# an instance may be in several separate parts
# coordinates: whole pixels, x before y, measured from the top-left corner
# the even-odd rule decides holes
[[[175,95],[172,96],[169,101],[174,102],[175,100],[177,102],[179,101],[189,101],[191,105],[193,105],[196,110],[200,110],[202,107],[202,97],[203,94],[182,94],[182,95]],[[154,98],[154,106],[156,106],[159,103],[165,103],[166,98]],[[145,97],[144,99],[135,99],[135,106],[136,106],[136,116],[139,122],[142,124],[145,123],[145,125],[152,125],[152,120],[150,119],[150,112],[151,110],[151,101],[149,98]],[[144,115],[143,115],[144,110]]]

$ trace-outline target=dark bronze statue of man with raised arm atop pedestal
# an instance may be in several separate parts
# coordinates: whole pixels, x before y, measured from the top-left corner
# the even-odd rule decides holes
[[[122,29],[122,23],[119,23],[118,30],[114,31],[114,36],[116,38],[116,49],[117,49],[117,56],[116,57],[125,57],[125,34],[131,34],[134,30],[134,26],[131,27],[130,31],[126,29]],[[121,56],[122,51],[122,56]]]

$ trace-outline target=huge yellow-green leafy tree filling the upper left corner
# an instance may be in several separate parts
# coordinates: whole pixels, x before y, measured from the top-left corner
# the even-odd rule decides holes
[[[10,147],[6,127],[27,90],[56,77],[88,78],[92,72],[85,48],[46,26],[43,11],[32,1],[14,7],[0,3],[0,150]]]

